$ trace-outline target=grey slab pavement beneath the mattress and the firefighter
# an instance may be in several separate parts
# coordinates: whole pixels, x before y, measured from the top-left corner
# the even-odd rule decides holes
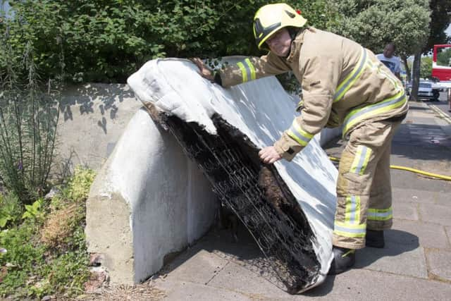
[[[441,103],[441,102],[440,102]],[[393,140],[393,165],[451,176],[451,123],[411,102]],[[446,104],[445,104],[446,105]],[[326,146],[340,156],[341,140]],[[354,269],[302,295],[289,295],[252,267],[262,257],[245,229],[238,242],[214,227],[149,282],[164,300],[451,300],[451,182],[391,170],[393,229],[385,248],[357,252]]]

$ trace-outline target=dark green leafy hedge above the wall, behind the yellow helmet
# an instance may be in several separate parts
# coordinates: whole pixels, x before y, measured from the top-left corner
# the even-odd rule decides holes
[[[11,1],[16,18],[0,28],[8,31],[15,54],[23,52],[25,41],[32,42],[44,77],[58,73],[62,47],[69,80],[125,82],[149,59],[260,54],[252,19],[268,2],[277,1]],[[335,11],[326,0],[287,2],[301,9],[310,25],[334,24]]]

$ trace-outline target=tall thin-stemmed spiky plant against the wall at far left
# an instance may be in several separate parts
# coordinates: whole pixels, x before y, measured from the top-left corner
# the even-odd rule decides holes
[[[28,204],[47,189],[60,94],[51,80],[43,91],[32,43],[16,53],[6,39],[0,36],[0,180]]]

